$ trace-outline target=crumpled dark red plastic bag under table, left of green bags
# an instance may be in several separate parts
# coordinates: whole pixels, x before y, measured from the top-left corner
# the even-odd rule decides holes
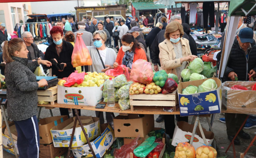
[[[133,139],[129,144],[121,146],[119,149],[114,149],[115,158],[130,158],[130,153],[133,152],[138,145],[139,136]]]

